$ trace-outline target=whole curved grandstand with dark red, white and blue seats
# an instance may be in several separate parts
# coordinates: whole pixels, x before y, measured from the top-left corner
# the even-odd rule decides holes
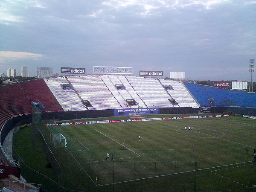
[[[210,107],[253,108],[256,95],[169,79],[123,75],[62,76],[0,87],[0,142],[21,119],[38,107],[49,119],[114,116],[116,109],[159,108],[158,114],[196,113]],[[247,113],[248,112],[248,113]],[[212,112],[213,113],[213,112]],[[86,114],[86,115],[84,115]]]

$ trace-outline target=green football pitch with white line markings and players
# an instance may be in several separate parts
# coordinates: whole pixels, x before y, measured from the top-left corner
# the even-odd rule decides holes
[[[254,119],[227,116],[48,128],[64,135],[67,146],[55,151],[76,167],[69,171],[76,175],[74,182],[88,178],[91,191],[256,191]],[[81,183],[84,189],[87,184]]]

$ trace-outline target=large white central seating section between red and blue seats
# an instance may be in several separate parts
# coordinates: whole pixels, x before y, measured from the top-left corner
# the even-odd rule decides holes
[[[180,81],[136,76],[89,75],[48,78],[45,82],[65,111],[148,107],[199,108]],[[64,90],[61,84],[70,84],[73,90]],[[166,90],[163,84],[170,84],[173,89]],[[118,89],[117,85],[122,88]],[[172,100],[176,102],[172,103]],[[84,101],[90,105],[85,107]]]

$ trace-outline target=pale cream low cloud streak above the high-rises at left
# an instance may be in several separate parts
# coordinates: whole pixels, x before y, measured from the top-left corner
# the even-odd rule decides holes
[[[36,59],[42,56],[31,52],[0,51],[0,62],[4,60]]]

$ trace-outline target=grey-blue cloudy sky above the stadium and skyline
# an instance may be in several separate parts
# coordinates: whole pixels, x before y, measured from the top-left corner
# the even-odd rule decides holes
[[[256,0],[0,0],[0,73],[113,66],[250,81],[255,58]]]

